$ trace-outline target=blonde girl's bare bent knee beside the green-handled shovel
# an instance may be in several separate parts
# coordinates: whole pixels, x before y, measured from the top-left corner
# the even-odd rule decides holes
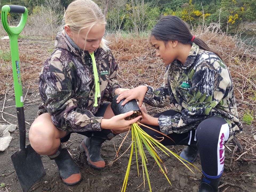
[[[41,155],[51,155],[59,147],[60,139],[66,135],[66,131],[57,129],[52,123],[51,116],[44,113],[37,117],[29,130],[31,147]]]

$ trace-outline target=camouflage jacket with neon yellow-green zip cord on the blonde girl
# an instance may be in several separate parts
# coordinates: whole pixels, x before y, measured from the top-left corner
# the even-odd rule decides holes
[[[71,40],[72,41],[72,40]],[[94,75],[88,51],[71,45],[60,32],[55,39],[55,50],[45,61],[39,76],[39,92],[43,103],[38,115],[48,112],[53,124],[64,131],[101,131],[101,119],[95,117],[102,101],[111,101],[119,86],[115,78],[118,65],[111,51],[94,51],[100,76],[101,97],[94,104]]]

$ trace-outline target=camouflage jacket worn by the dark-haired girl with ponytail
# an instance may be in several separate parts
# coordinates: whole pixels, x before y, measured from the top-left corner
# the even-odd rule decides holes
[[[197,129],[200,122],[213,115],[226,119],[230,127],[229,141],[242,132],[229,70],[217,55],[199,49],[195,43],[184,65],[175,60],[167,66],[160,88],[147,87],[143,102],[155,107],[173,103],[175,110],[181,112],[158,118],[162,133]]]

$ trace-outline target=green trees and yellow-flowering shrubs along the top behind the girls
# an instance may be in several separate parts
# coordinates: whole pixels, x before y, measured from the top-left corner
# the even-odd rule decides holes
[[[104,11],[107,31],[130,32],[143,35],[150,31],[162,15],[176,15],[191,27],[210,26],[218,23],[218,30],[226,33],[239,31],[242,22],[256,21],[256,0],[94,0]],[[0,7],[6,4],[26,6],[29,11],[27,25],[33,30],[24,31],[30,36],[55,36],[62,24],[65,9],[71,0],[0,0]],[[19,14],[10,14],[9,21],[19,19]],[[42,23],[44,25],[42,25]],[[10,24],[10,23],[9,23]],[[41,25],[45,27],[43,30]],[[38,31],[51,31],[49,35]],[[33,28],[32,28],[33,29]],[[27,32],[27,33],[26,33]],[[251,32],[253,33],[253,32]],[[255,31],[254,31],[255,33]]]

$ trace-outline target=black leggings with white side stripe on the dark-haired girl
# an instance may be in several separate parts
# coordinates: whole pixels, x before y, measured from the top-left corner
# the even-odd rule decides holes
[[[174,110],[167,110],[155,115],[173,116],[179,112]],[[149,127],[160,131],[158,126]],[[163,135],[154,130],[142,126],[142,129],[149,135],[159,140]],[[203,173],[207,176],[218,176],[222,174],[224,168],[224,146],[223,144],[229,138],[229,126],[225,119],[220,116],[212,116],[203,120],[196,130],[191,130],[186,133],[172,133],[168,135],[173,141],[164,137],[161,143],[168,145],[192,145],[197,146]]]

